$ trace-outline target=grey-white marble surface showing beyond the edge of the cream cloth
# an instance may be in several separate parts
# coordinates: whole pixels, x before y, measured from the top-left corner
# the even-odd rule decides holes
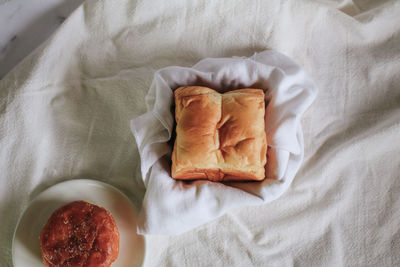
[[[43,43],[84,0],[0,0],[0,79]]]

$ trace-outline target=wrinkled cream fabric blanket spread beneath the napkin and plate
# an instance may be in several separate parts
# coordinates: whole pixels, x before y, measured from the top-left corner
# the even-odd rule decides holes
[[[0,81],[0,265],[29,200],[91,178],[144,195],[129,120],[157,69],[272,48],[319,93],[279,199],[179,236],[147,266],[400,265],[399,1],[89,1]]]

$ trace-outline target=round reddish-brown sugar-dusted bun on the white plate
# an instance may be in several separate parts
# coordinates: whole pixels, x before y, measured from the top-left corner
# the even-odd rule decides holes
[[[45,266],[108,267],[118,257],[119,233],[102,207],[74,201],[57,209],[40,232]]]

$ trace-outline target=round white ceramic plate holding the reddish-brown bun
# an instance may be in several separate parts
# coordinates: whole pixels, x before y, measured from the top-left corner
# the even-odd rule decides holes
[[[118,189],[95,180],[70,180],[40,193],[20,218],[14,234],[14,267],[43,267],[39,235],[57,208],[75,200],[86,200],[109,210],[120,234],[119,255],[112,267],[141,266],[144,240],[137,235],[137,215],[129,199]]]

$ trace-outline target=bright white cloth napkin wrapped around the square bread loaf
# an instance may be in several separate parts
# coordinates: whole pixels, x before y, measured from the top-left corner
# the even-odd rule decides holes
[[[176,181],[170,176],[173,90],[205,85],[218,91],[262,88],[266,94],[268,163],[262,182]],[[141,234],[180,234],[231,208],[270,202],[290,185],[303,159],[300,118],[317,93],[302,68],[272,50],[250,58],[208,58],[192,68],[158,70],[146,96],[147,112],[131,121],[146,194]]]

